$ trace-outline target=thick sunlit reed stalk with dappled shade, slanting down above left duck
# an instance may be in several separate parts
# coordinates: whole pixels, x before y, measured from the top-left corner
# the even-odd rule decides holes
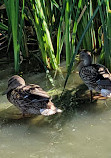
[[[52,67],[53,69],[57,70],[58,65],[54,54],[50,30],[47,23],[48,15],[45,14],[45,8],[47,8],[48,6],[46,6],[46,4],[43,3],[42,0],[30,0],[30,4],[28,5],[28,15],[32,20],[32,23],[37,34],[37,39],[41,49],[44,64],[48,68]]]

